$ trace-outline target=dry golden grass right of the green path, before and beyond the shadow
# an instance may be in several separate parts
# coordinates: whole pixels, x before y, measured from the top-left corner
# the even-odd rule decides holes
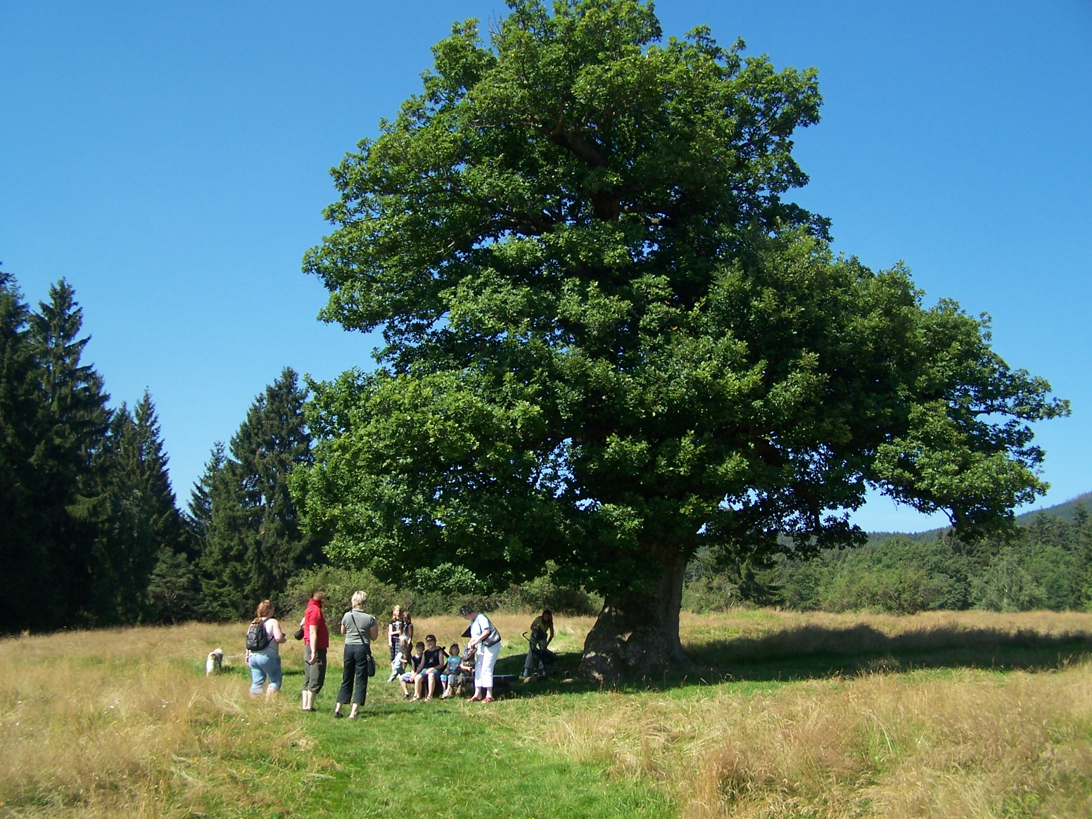
[[[779,650],[886,650],[1092,632],[1092,616],[685,616]],[[816,645],[821,638],[824,643]],[[865,674],[542,703],[527,741],[618,775],[651,775],[692,819],[1092,816],[1092,665]],[[561,698],[557,698],[561,699]]]

